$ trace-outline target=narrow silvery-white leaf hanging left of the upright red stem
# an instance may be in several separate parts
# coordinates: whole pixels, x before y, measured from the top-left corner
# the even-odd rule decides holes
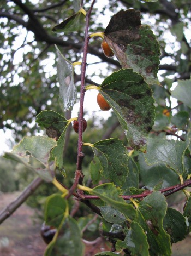
[[[57,46],[56,51],[58,55],[59,99],[61,108],[65,112],[74,106],[76,99],[77,90],[74,82],[74,65],[62,55]]]

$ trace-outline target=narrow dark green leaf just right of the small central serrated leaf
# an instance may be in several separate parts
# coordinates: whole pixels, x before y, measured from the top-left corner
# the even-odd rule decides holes
[[[139,169],[136,166],[132,157],[129,157],[128,161],[129,173],[126,177],[126,181],[122,185],[122,189],[129,189],[130,187],[139,187]]]

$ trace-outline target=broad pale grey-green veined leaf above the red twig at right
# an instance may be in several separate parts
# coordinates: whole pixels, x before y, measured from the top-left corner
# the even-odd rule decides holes
[[[184,173],[184,153],[188,148],[190,140],[168,141],[166,139],[148,140],[145,160],[148,165],[165,163],[173,169],[179,176]]]

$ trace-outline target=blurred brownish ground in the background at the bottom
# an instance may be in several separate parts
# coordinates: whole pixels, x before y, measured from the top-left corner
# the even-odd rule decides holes
[[[19,192],[0,194],[0,211],[13,201]],[[46,244],[40,236],[41,220],[35,217],[35,210],[26,204],[0,225],[1,256],[43,256]],[[4,241],[4,243],[3,243]],[[3,246],[4,244],[4,246]],[[85,256],[93,256],[100,248],[86,248]],[[173,244],[173,256],[191,255],[191,237]],[[77,256],[77,255],[69,255]]]

